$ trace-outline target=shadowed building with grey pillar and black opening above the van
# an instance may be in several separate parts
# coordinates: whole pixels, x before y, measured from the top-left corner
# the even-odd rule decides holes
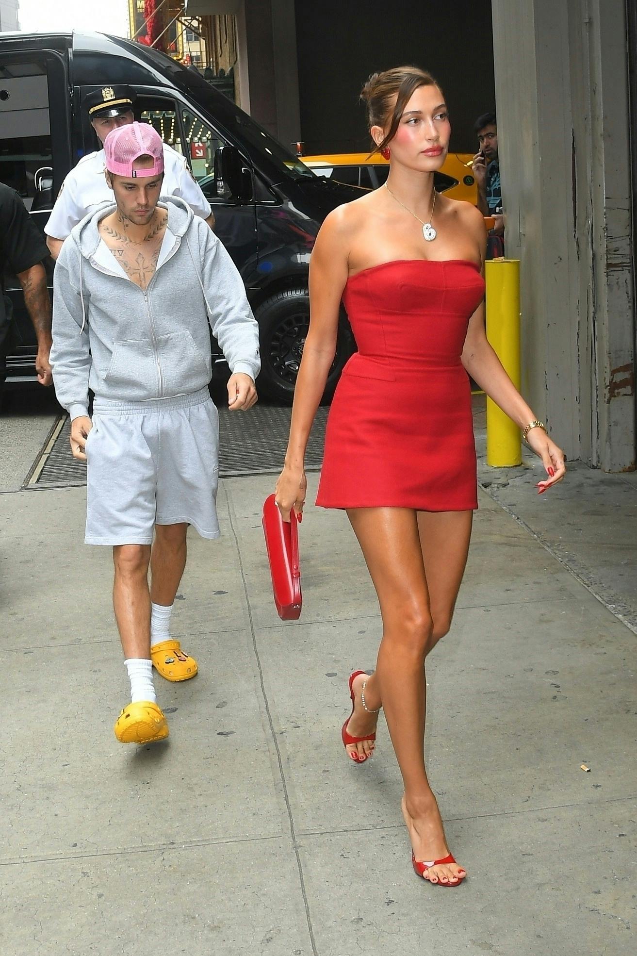
[[[306,152],[366,149],[362,84],[403,63],[442,84],[458,152],[494,107],[490,0],[189,0],[188,13],[235,14],[242,108]]]

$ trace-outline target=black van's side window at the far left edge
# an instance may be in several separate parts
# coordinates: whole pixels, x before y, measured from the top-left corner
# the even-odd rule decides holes
[[[46,61],[21,61],[0,66],[0,181],[38,206],[46,186],[53,185],[53,152],[49,121]],[[41,205],[41,204],[40,204]],[[46,204],[45,204],[46,205]]]

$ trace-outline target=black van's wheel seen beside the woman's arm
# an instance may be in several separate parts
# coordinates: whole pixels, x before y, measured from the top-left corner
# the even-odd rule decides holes
[[[261,339],[259,394],[292,404],[298,366],[310,326],[310,295],[307,289],[276,293],[254,310]],[[337,351],[327,377],[322,402],[329,402],[340,379],[343,365],[354,351],[354,339],[344,318],[339,325]]]

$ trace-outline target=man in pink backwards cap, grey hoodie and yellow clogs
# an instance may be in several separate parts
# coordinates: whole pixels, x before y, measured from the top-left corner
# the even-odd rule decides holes
[[[116,204],[87,216],[64,242],[51,363],[73,454],[87,461],[85,541],[113,547],[113,603],[131,684],[115,734],[144,744],[168,736],[152,667],[168,681],[197,672],[169,632],[187,526],[207,538],[220,533],[209,325],[231,368],[231,409],[256,401],[258,329],[208,225],[177,197],[159,204],[164,153],[155,130],[121,126],[104,150]]]

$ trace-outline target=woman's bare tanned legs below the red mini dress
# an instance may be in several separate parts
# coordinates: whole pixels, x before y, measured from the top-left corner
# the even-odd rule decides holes
[[[403,811],[416,859],[444,858],[449,848],[436,799],[429,787],[424,756],[425,658],[435,642],[421,545],[424,532],[419,528],[416,512],[407,509],[356,509],[347,513],[379,597],[384,625],[377,670],[367,682],[365,701],[370,709],[381,704],[384,707],[405,782]],[[444,597],[436,597],[440,606],[437,613],[442,615],[447,611],[450,619],[466,561],[471,518],[467,512],[439,512],[436,519],[439,550],[431,556],[435,557],[440,580],[445,584],[441,594],[450,596],[450,607]],[[425,524],[427,531],[427,521]],[[441,618],[441,623],[444,622]],[[363,719],[370,718],[361,706],[358,710]],[[354,718],[348,730],[356,736],[362,735]],[[455,881],[464,875],[464,869],[457,864],[428,870],[428,879],[433,882]]]

